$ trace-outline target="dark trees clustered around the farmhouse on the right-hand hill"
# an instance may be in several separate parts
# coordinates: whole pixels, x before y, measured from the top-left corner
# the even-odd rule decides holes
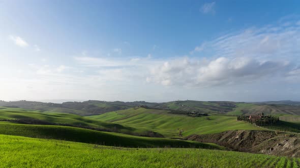
[[[239,115],[237,116],[237,120],[239,121],[246,121],[250,122],[251,124],[254,125],[272,125],[276,124],[279,121],[279,117],[273,116],[273,115],[263,115],[260,114],[258,116],[244,116],[244,115]]]

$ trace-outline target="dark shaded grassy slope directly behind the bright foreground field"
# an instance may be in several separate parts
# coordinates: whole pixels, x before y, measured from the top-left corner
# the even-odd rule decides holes
[[[34,138],[59,139],[122,147],[196,147],[223,149],[215,144],[166,138],[137,137],[119,133],[100,132],[56,125],[28,125],[0,122],[0,134]]]

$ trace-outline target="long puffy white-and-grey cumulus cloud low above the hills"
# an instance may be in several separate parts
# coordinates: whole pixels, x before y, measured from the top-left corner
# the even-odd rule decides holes
[[[260,61],[245,57],[220,57],[211,61],[183,58],[152,68],[146,81],[161,85],[210,87],[284,74],[289,67],[288,62]]]

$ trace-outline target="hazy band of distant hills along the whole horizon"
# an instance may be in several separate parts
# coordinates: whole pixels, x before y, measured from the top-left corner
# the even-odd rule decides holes
[[[165,103],[151,103],[145,101],[98,101],[43,103],[35,101],[0,101],[0,106],[19,107],[40,111],[62,112],[81,116],[99,115],[106,112],[125,110],[142,106],[151,109],[170,110],[170,113],[185,114],[197,111],[208,114],[250,115],[250,114],[292,114],[300,115],[300,102],[295,101],[268,101],[268,102],[230,102],[230,101],[171,101]]]

